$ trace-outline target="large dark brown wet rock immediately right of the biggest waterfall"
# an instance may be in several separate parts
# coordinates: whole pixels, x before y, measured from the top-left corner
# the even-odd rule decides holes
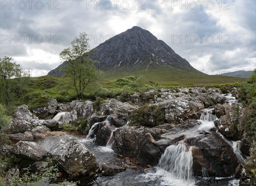
[[[233,148],[218,133],[186,138],[186,142],[189,146],[194,146],[192,153],[195,176],[201,176],[202,167],[208,170],[209,176],[218,177],[236,175],[236,171],[241,170]]]

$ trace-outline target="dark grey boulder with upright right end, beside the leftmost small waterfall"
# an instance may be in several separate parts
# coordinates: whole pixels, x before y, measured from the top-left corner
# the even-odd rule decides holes
[[[51,119],[57,110],[57,100],[49,99],[47,107],[39,107],[33,110],[33,114],[35,114],[39,119]]]

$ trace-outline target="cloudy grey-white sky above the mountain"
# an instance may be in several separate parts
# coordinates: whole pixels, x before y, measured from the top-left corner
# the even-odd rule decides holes
[[[256,68],[255,0],[0,3],[0,57],[35,69],[32,76],[37,69],[44,70],[37,70],[38,76],[46,75],[60,65],[59,53],[79,32],[89,35],[94,48],[135,25],[166,42],[194,68],[215,73]]]

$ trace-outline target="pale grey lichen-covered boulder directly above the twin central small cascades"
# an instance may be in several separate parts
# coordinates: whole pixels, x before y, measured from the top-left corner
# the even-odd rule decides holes
[[[131,111],[137,108],[137,106],[117,101],[116,99],[110,99],[100,106],[100,112],[102,115],[110,115],[114,112]]]

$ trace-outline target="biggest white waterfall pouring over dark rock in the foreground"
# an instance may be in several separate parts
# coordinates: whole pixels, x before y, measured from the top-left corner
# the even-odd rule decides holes
[[[187,151],[184,144],[171,145],[161,156],[158,167],[171,173],[175,180],[184,180],[187,184],[192,182],[192,147]]]

